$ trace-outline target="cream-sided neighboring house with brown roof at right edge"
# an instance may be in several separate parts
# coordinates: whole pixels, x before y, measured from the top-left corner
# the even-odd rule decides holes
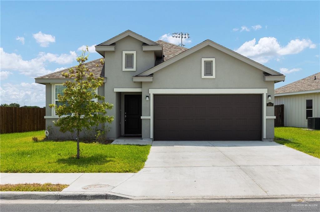
[[[284,105],[285,127],[308,127],[308,117],[320,117],[320,72],[277,88],[275,105]]]

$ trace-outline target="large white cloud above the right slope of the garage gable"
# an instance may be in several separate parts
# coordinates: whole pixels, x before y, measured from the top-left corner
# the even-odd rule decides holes
[[[260,38],[258,43],[255,38],[246,41],[235,51],[257,62],[266,63],[283,55],[298,54],[305,48],[315,48],[315,46],[311,40],[306,39],[291,40],[286,46],[281,46],[276,38],[264,37]]]

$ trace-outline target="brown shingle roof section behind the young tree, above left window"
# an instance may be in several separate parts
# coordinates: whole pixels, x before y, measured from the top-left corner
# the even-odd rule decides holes
[[[102,66],[100,64],[101,59],[103,59],[103,61],[104,61],[104,58],[99,58],[99,59],[92,60],[90,62],[85,63],[85,67],[88,68],[89,71],[92,72],[93,76],[96,78],[104,77],[104,65]],[[96,64],[99,64],[99,66],[96,67]],[[71,69],[71,68],[75,68],[75,66],[67,68],[67,69],[63,69],[60,71],[56,71],[56,72],[53,72],[51,74],[47,74],[47,75],[44,75],[41,77],[37,77],[36,79],[65,79],[65,77],[62,76],[62,73],[68,72],[69,69]]]

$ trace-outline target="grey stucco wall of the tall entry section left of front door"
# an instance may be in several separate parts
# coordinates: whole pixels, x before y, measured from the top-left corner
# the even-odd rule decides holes
[[[122,71],[122,51],[136,51],[136,71]],[[141,82],[133,82],[132,77],[153,67],[155,54],[153,51],[142,51],[142,42],[130,36],[116,42],[115,52],[105,52],[105,98],[114,108],[109,115],[115,117],[115,121],[108,124],[110,131],[108,138],[116,138],[121,135],[121,94],[114,92],[114,88],[141,88]]]

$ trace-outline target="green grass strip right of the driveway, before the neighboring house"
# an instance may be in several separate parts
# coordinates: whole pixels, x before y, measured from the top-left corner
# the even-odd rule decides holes
[[[320,158],[320,130],[276,127],[275,142]]]

